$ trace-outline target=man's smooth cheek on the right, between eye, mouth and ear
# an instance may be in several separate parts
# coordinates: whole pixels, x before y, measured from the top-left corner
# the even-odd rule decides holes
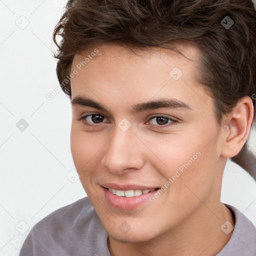
[[[198,196],[209,193],[214,182],[218,159],[217,145],[214,141],[207,145],[209,139],[205,136],[190,134],[182,137],[172,136],[157,140],[157,144],[148,144],[157,156],[151,158],[154,159],[151,164],[166,181],[171,178],[171,185],[167,185],[170,187],[168,190],[172,191],[171,194],[175,191],[175,197],[180,201],[184,201],[186,196],[195,197],[196,200],[196,196],[189,188]]]

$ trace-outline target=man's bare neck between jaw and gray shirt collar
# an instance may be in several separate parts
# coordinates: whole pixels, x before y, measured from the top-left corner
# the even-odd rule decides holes
[[[216,255],[232,234],[232,231],[226,234],[220,228],[226,220],[234,225],[232,214],[223,203],[210,209],[201,204],[189,219],[148,241],[125,243],[108,238],[109,252],[112,256]]]

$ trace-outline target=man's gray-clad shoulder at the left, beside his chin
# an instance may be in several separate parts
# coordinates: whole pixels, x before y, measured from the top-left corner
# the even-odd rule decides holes
[[[88,197],[84,197],[37,222],[27,235],[19,255],[87,255],[103,247],[106,238],[93,206]]]

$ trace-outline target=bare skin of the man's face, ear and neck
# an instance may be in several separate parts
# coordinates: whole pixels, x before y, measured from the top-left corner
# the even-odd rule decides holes
[[[113,256],[215,255],[232,234],[220,229],[226,220],[234,225],[220,202],[222,174],[227,157],[246,140],[253,105],[249,97],[242,98],[220,126],[213,99],[196,81],[200,52],[183,42],[179,47],[193,61],[158,47],[134,54],[123,46],[99,45],[97,56],[71,79],[72,100],[87,97],[107,109],[73,104],[70,138],[76,170],[108,233]],[[92,50],[75,55],[71,70]],[[175,66],[183,72],[176,81],[169,75]],[[166,97],[191,109],[131,110],[133,104]],[[95,123],[92,116],[78,120],[93,113],[102,115],[102,121]],[[157,118],[150,120],[159,115],[178,121],[167,119],[162,125]],[[123,118],[131,123],[127,131],[118,127]],[[100,184],[161,187],[197,151],[200,156],[154,202],[122,210],[106,201]],[[118,228],[123,221],[130,226],[126,233]]]

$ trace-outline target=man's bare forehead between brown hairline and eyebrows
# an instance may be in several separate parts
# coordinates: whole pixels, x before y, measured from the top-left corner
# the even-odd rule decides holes
[[[166,48],[130,49],[120,45],[100,45],[79,52],[74,56],[72,69],[79,63],[84,65],[71,79],[72,99],[89,97],[121,111],[140,102],[167,97],[199,111],[207,104],[211,111],[211,98],[196,79],[199,51],[186,42],[173,46],[183,55]]]

